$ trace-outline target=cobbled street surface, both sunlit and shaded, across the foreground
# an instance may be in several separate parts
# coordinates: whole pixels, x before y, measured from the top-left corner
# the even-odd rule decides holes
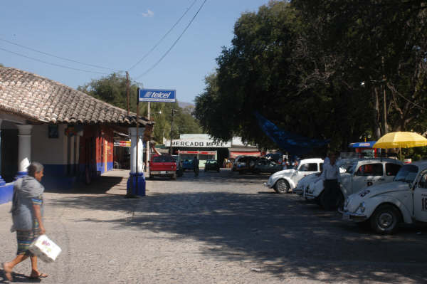
[[[267,178],[186,172],[175,182],[149,181],[141,199],[105,192],[120,182],[114,177],[96,189],[46,193],[48,236],[63,253],[40,263],[50,274],[42,282],[426,281],[426,228],[376,236],[294,194],[275,194],[262,186]],[[16,250],[9,208],[0,205],[1,261]],[[28,282],[28,269],[28,262],[16,267],[16,282]]]

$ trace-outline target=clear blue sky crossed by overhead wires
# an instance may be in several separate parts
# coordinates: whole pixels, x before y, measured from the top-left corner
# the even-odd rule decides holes
[[[128,70],[142,88],[175,89],[179,101],[194,102],[204,91],[205,76],[215,71],[222,46],[231,46],[236,20],[242,13],[258,11],[268,3],[207,0],[202,6],[204,1],[1,1],[0,63],[72,88]]]

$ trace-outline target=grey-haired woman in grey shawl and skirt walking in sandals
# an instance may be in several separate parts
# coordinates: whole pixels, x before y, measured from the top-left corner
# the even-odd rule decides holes
[[[32,162],[28,166],[28,176],[16,180],[14,183],[14,196],[12,199],[12,220],[11,231],[16,231],[16,241],[18,250],[13,261],[3,263],[4,275],[7,280],[12,281],[12,270],[15,265],[31,259],[30,279],[46,278],[45,273],[40,273],[37,268],[37,256],[34,256],[28,247],[31,243],[46,233],[43,217],[43,191],[41,178],[43,177],[43,165]]]

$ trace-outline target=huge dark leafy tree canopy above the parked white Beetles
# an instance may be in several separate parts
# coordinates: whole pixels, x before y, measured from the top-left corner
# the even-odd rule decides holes
[[[334,149],[385,131],[420,131],[426,9],[427,1],[270,1],[236,21],[194,114],[218,139],[238,135],[263,147],[274,145],[255,112],[284,130],[330,139]]]

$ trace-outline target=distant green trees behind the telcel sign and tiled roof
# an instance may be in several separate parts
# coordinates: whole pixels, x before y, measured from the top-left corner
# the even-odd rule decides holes
[[[125,76],[112,73],[79,86],[78,90],[126,110],[126,84]],[[130,85],[130,111],[132,112],[137,110],[137,88],[135,84]],[[147,105],[147,102],[139,103],[139,115],[147,117]],[[182,133],[202,132],[199,122],[191,115],[191,107],[181,108],[178,102],[151,102],[150,119],[155,122],[153,137],[156,142],[162,144],[163,138],[171,138],[172,109],[174,109],[172,138],[179,138]]]

